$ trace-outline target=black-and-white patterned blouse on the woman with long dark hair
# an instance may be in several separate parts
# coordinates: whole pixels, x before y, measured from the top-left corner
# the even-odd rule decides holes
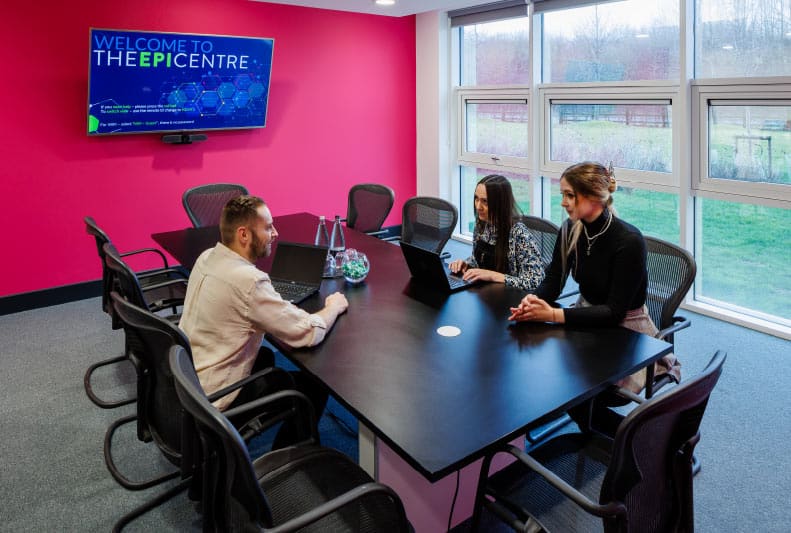
[[[496,233],[497,230],[491,224],[485,224],[480,232],[476,226],[472,234],[473,249],[479,240],[495,244],[497,242]],[[478,268],[478,262],[474,256],[468,257],[465,261],[469,268]],[[544,279],[544,267],[541,264],[538,244],[522,222],[516,222],[511,226],[508,236],[508,272],[504,272],[504,274],[507,286],[528,291],[538,287]]]

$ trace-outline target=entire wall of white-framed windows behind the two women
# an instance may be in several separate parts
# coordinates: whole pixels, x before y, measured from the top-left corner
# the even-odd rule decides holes
[[[618,216],[694,252],[687,305],[791,336],[791,0],[542,0],[495,20],[517,4],[451,17],[462,233],[486,174],[560,224],[563,170],[612,162]]]

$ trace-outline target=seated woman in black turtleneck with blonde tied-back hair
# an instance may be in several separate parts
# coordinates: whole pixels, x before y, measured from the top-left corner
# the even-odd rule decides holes
[[[555,243],[552,263],[535,294],[528,294],[511,308],[509,320],[568,323],[584,326],[617,326],[654,336],[657,328],[645,306],[648,286],[646,247],[636,227],[615,216],[612,170],[598,163],[583,162],[567,168],[560,178],[561,206],[569,215]],[[574,307],[552,307],[563,289],[566,276],[579,284],[580,297]],[[675,358],[670,358],[675,362]],[[678,367],[665,365],[680,377]],[[678,365],[680,366],[680,365]],[[634,392],[645,386],[645,371],[618,383]],[[593,425],[615,433],[620,417],[603,405],[626,403],[605,393],[594,407]],[[597,405],[598,404],[598,405]],[[581,406],[569,412],[579,421]]]

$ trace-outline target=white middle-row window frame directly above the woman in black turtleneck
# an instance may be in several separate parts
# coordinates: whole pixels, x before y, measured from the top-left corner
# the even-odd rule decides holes
[[[597,83],[550,83],[538,86],[539,124],[542,133],[539,135],[540,164],[542,174],[559,175],[568,166],[578,161],[554,161],[551,159],[552,110],[553,101],[564,104],[586,104],[606,102],[615,105],[634,105],[637,103],[656,103],[670,106],[671,112],[671,160],[670,172],[654,172],[631,168],[615,167],[619,184],[633,188],[647,188],[666,192],[679,193],[680,180],[673,171],[678,157],[678,124],[681,121],[678,106],[673,103],[678,99],[679,86],[675,82],[597,82]]]

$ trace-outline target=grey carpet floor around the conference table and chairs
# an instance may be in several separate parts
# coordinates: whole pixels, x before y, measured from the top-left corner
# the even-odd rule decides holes
[[[715,349],[728,352],[697,451],[703,464],[695,478],[697,530],[789,531],[791,345],[686,314],[693,326],[677,335],[686,375],[700,371]],[[163,490],[129,492],[104,465],[107,426],[134,406],[103,410],[85,396],[87,366],[123,348],[122,332],[110,329],[98,299],[1,316],[0,339],[0,530],[109,531],[119,516]],[[131,369],[117,367],[96,375],[105,396],[133,390]],[[129,472],[144,477],[169,468],[154,446],[137,442],[133,426],[116,442]],[[128,531],[199,529],[195,505],[180,496]]]

